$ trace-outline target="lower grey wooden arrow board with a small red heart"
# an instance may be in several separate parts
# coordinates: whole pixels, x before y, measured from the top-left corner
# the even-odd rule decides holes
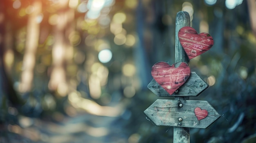
[[[220,114],[207,102],[157,99],[144,113],[155,125],[207,128]]]

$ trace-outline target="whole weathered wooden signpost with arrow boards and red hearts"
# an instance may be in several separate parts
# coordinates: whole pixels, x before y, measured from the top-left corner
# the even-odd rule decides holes
[[[153,80],[148,88],[159,97],[144,113],[155,125],[173,126],[173,142],[189,143],[189,128],[207,128],[220,114],[207,101],[189,100],[198,96],[206,88],[200,76],[191,72],[189,60],[213,46],[213,38],[208,33],[198,34],[189,27],[189,13],[180,11],[176,16],[175,63],[158,62],[153,65]]]

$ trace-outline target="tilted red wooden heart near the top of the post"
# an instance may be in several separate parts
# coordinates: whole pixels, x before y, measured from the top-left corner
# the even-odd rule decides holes
[[[189,59],[201,55],[213,46],[213,38],[210,34],[198,34],[195,29],[189,26],[181,28],[178,37]]]

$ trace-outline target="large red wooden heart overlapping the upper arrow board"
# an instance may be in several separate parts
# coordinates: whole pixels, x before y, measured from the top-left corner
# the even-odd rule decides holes
[[[175,68],[176,64],[180,64]],[[151,75],[170,95],[173,94],[189,78],[190,68],[186,63],[158,62],[152,66]]]

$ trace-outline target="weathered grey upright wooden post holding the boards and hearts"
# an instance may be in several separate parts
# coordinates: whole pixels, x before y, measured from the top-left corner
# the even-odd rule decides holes
[[[189,57],[186,55],[184,48],[180,44],[178,37],[179,30],[184,26],[190,26],[189,13],[180,11],[176,15],[175,24],[175,63],[185,62],[189,64]],[[178,92],[178,91],[177,91]],[[175,97],[175,100],[188,100],[189,97]],[[189,128],[174,127],[173,128],[173,143],[189,143]]]

